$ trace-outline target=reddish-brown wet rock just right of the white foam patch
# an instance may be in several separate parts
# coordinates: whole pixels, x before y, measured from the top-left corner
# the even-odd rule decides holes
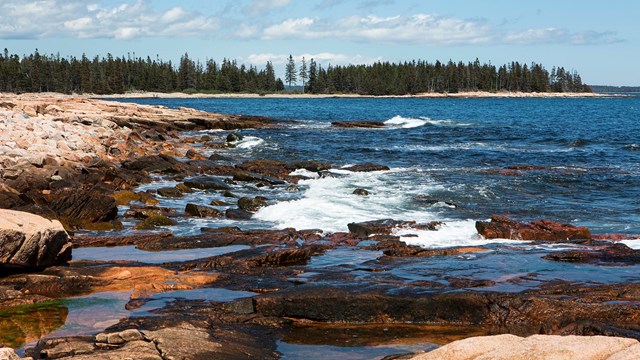
[[[478,233],[487,239],[517,239],[539,241],[590,240],[586,227],[539,220],[529,224],[512,221],[506,216],[494,215],[491,222],[477,221]]]

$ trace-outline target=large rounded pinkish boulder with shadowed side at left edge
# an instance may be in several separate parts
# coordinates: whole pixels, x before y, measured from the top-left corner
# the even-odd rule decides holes
[[[71,260],[69,235],[57,220],[0,210],[0,269],[29,270]]]

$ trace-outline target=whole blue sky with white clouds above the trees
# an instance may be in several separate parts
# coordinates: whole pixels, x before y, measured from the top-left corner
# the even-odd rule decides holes
[[[2,0],[0,48],[271,61],[279,76],[290,54],[323,66],[478,58],[638,86],[639,15],[631,0]]]

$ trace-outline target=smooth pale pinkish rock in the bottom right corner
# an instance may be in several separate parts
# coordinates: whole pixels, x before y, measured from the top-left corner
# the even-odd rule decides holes
[[[640,343],[635,339],[608,336],[532,335],[527,338],[504,334],[454,341],[412,360],[440,359],[633,359]]]

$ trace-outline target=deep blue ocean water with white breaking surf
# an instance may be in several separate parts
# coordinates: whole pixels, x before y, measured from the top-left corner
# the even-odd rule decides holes
[[[443,233],[462,241],[473,221],[504,214],[640,234],[639,97],[124,101],[294,121],[241,131],[245,142],[226,150],[236,158],[392,168],[303,181],[301,194],[256,215],[267,227],[338,231],[374,218],[445,220],[451,227]],[[357,120],[388,127],[330,125]],[[514,168],[524,165],[534,168]],[[352,196],[357,187],[372,195]]]

